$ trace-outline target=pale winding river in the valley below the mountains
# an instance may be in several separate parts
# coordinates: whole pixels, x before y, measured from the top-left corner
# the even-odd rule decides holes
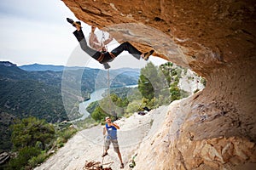
[[[137,84],[125,86],[125,87],[126,88],[136,88]],[[90,115],[90,113],[88,111],[86,111],[86,108],[88,107],[88,105],[90,105],[91,102],[102,99],[103,98],[102,94],[104,94],[105,90],[107,90],[107,89],[108,88],[97,89],[96,91],[94,91],[93,93],[90,94],[90,99],[79,104],[79,113],[81,113],[83,116],[81,118],[79,118],[78,120],[84,120],[87,116]]]

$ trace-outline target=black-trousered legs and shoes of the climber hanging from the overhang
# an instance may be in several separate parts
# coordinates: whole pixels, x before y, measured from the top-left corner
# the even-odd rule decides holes
[[[117,48],[114,48],[111,52],[97,51],[96,49],[90,48],[87,45],[80,21],[74,22],[72,19],[67,18],[67,22],[76,27],[77,30],[74,31],[73,34],[78,39],[80,47],[84,50],[84,52],[86,54],[89,54],[90,57],[92,57],[93,59],[99,61],[102,65],[104,65],[105,69],[109,69],[110,65],[108,65],[108,62],[113,61],[113,59],[116,58],[123,51],[128,51],[128,53],[134,56],[136,59],[143,58],[145,60],[148,60],[149,56],[154,53],[154,50],[142,53],[137,48],[133,47],[130,42],[121,43]]]

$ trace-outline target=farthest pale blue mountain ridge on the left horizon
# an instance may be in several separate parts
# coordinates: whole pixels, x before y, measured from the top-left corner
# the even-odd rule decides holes
[[[33,64],[33,65],[21,65],[19,66],[20,69],[24,71],[63,71],[66,70],[78,70],[83,69],[84,67],[67,67],[64,65],[39,65],[39,64]]]

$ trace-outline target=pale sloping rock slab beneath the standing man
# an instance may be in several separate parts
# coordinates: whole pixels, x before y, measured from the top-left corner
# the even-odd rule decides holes
[[[137,153],[137,149],[143,140],[154,134],[165,119],[167,106],[161,106],[156,110],[149,111],[145,116],[135,113],[129,118],[122,118],[116,123],[118,131],[120,151],[125,163],[125,169],[129,169],[131,157]],[[45,161],[36,170],[75,170],[83,169],[85,161],[102,161],[103,149],[102,126],[92,127],[80,131],[67,144],[58,150],[53,156]],[[110,147],[104,163],[112,162],[113,170],[119,169],[120,163],[117,154]],[[108,167],[108,166],[105,166]]]

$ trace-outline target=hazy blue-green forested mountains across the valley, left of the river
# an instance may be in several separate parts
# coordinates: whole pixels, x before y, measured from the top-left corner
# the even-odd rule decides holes
[[[77,70],[57,71],[57,69],[63,68],[60,65],[26,66],[38,70],[50,68],[55,71],[24,71],[8,61],[0,62],[0,108],[20,117],[24,117],[26,114],[41,116],[39,118],[44,118],[48,122],[60,122],[67,118],[67,116],[62,116],[62,114],[66,114],[61,100],[63,86],[65,86],[65,92],[77,97],[81,95],[79,91],[82,91],[80,98],[85,99],[94,91],[96,79],[101,71],[91,68],[79,69],[79,67]],[[97,80],[100,86],[97,87],[106,88],[108,86],[107,73],[107,71],[102,71],[102,76]],[[129,68],[111,70],[110,77],[112,78],[111,87],[133,85],[137,84],[139,70]],[[51,104],[55,105],[49,106]],[[61,113],[56,114],[55,107],[60,105]],[[71,107],[73,108],[72,105]],[[44,109],[42,110],[42,108]],[[46,113],[47,115],[45,115]],[[76,115],[78,114],[76,113]]]

